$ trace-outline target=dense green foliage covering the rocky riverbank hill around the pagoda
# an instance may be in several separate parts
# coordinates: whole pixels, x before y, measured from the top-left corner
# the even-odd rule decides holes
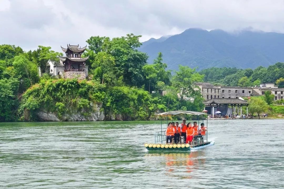
[[[36,121],[40,111],[54,113],[64,121],[64,115],[74,111],[88,116],[98,111],[96,105],[106,120],[148,120],[166,110],[201,111],[201,93],[193,88],[203,76],[187,66],[180,66],[172,76],[162,53],[148,64],[147,54],[137,50],[139,37],[90,37],[83,54],[90,56],[89,77],[83,81],[45,73],[47,61],[58,61],[57,56],[62,55],[50,47],[24,52],[20,47],[1,45],[0,121]],[[180,90],[184,92],[178,98]],[[162,91],[167,92],[162,96]]]

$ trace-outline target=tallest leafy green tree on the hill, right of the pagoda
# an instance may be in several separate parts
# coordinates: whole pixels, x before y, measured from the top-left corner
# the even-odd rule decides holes
[[[141,35],[127,34],[109,40],[106,37],[92,36],[86,41],[89,44],[86,55],[90,55],[89,61],[92,62],[98,52],[105,51],[114,57],[117,78],[122,76],[127,85],[141,87],[144,84],[142,68],[147,64],[148,56],[137,50],[141,45],[140,37]]]

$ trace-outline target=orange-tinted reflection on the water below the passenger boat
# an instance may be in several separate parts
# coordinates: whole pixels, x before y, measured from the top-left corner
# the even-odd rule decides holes
[[[189,153],[148,153],[147,156],[160,156],[159,159],[164,159],[167,172],[181,171],[185,169],[186,173],[191,173],[197,170],[201,164],[205,164],[206,159],[204,151],[191,151]],[[187,178],[191,178],[187,176]]]

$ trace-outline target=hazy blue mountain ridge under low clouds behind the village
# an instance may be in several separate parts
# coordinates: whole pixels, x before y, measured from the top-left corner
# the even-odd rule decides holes
[[[284,34],[190,28],[183,33],[142,43],[140,51],[149,55],[149,63],[163,53],[163,62],[171,70],[187,65],[198,70],[210,67],[256,68],[284,61]]]

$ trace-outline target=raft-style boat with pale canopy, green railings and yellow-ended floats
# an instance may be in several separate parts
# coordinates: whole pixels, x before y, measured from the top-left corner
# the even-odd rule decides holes
[[[178,111],[167,111],[167,112],[163,112],[163,113],[159,113],[157,114],[157,116],[160,116],[161,118],[161,131],[157,131],[155,132],[155,142],[154,143],[145,143],[144,147],[147,150],[158,150],[158,151],[191,151],[191,150],[198,150],[198,149],[202,149],[211,145],[215,144],[215,141],[208,141],[208,119],[206,119],[206,133],[205,135],[202,135],[201,137],[198,137],[197,140],[192,141],[192,143],[166,143],[166,134],[165,131],[163,131],[162,128],[162,116],[175,116],[175,115],[195,115],[197,116],[197,121],[198,121],[198,130],[199,130],[199,116],[202,116],[202,122],[204,120],[204,115],[206,115],[206,118],[209,114],[205,113],[205,112],[197,112],[197,111],[182,111],[182,110],[178,110]],[[167,119],[168,120],[168,119]],[[168,122],[168,121],[167,121]],[[165,130],[165,129],[164,129]],[[181,142],[181,138],[179,140]]]

